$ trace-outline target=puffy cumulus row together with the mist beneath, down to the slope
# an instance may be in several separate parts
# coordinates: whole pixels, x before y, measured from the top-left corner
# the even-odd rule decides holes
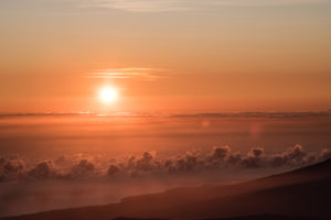
[[[173,187],[231,184],[330,157],[330,150],[306,152],[298,144],[277,154],[266,154],[263,147],[242,153],[214,146],[211,152],[172,156],[156,151],[118,158],[75,154],[42,161],[2,155],[0,215],[104,205]]]

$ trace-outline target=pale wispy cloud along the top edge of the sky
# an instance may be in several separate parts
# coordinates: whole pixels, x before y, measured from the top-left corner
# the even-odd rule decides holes
[[[328,2],[328,0],[84,0],[83,8],[106,8],[132,12],[201,10],[211,7],[258,7]]]

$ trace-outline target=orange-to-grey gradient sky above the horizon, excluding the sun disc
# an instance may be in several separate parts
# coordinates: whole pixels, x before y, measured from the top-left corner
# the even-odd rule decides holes
[[[0,112],[331,108],[329,0],[0,0]],[[105,106],[97,90],[119,89]]]

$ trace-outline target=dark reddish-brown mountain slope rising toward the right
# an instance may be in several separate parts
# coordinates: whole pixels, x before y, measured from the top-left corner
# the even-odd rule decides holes
[[[175,188],[118,204],[2,218],[3,220],[331,219],[331,160],[252,182]],[[261,213],[270,213],[263,215]],[[275,215],[275,216],[274,216]],[[242,217],[241,217],[242,216]],[[233,218],[236,217],[236,218]]]

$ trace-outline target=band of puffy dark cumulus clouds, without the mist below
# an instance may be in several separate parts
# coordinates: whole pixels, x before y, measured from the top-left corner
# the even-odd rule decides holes
[[[172,174],[204,174],[226,168],[263,169],[292,168],[331,158],[330,150],[306,152],[295,145],[279,154],[267,155],[263,147],[248,153],[232,152],[228,146],[214,146],[212,152],[189,151],[183,155],[159,157],[156,152],[141,156],[105,158],[102,156],[61,156],[28,164],[19,156],[0,157],[0,180],[90,179],[97,177],[169,176]]]

